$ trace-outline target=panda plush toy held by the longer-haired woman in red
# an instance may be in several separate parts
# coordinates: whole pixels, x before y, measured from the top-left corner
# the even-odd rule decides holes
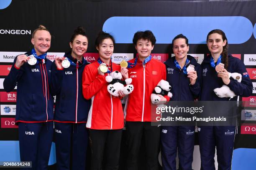
[[[132,79],[128,78],[124,81],[122,79],[122,75],[119,71],[110,72],[108,76],[106,76],[106,81],[109,82],[108,92],[113,96],[119,96],[118,91],[122,90],[125,95],[130,94],[134,87],[131,85]],[[124,86],[126,85],[126,86]]]

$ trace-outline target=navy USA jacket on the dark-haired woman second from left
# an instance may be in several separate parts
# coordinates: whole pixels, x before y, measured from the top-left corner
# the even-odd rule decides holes
[[[77,61],[71,53],[64,55],[78,66],[70,65],[64,70],[57,70],[55,62],[52,70],[52,91],[56,95],[56,106],[54,110],[55,122],[82,123],[87,122],[91,100],[86,100],[82,94],[82,74],[85,65],[90,64],[82,58]]]

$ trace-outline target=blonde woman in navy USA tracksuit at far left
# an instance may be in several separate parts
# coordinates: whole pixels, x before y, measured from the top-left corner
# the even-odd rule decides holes
[[[17,84],[15,122],[20,160],[32,161],[32,169],[47,170],[53,138],[53,97],[49,89],[52,62],[46,58],[51,46],[50,32],[40,25],[31,42],[33,49],[15,57],[3,85],[10,92]],[[28,57],[31,55],[34,57]]]

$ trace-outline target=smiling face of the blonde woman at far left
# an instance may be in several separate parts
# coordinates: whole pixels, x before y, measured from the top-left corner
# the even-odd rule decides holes
[[[37,55],[46,53],[51,47],[51,35],[46,30],[36,31],[34,37],[31,39]]]

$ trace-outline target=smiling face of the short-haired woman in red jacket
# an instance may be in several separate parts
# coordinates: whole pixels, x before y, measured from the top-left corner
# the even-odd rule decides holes
[[[135,48],[138,52],[138,57],[144,60],[146,57],[148,57],[151,54],[151,51],[153,50],[154,45],[152,45],[150,40],[139,39],[137,41]]]

